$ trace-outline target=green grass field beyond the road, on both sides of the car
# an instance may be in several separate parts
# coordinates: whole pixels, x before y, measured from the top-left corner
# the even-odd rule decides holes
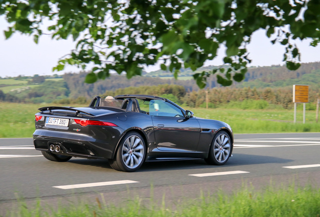
[[[0,103],[0,138],[32,137],[34,114],[38,112],[37,108],[46,105]],[[319,132],[320,126],[320,123],[315,123],[314,111],[306,111],[305,124],[302,124],[302,111],[297,111],[297,123],[293,124],[293,111],[290,110],[186,109],[193,111],[196,117],[228,123],[235,134]]]

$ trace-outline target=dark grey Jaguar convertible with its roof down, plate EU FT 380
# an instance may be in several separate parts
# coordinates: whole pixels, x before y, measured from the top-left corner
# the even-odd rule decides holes
[[[132,172],[145,161],[203,158],[223,165],[232,153],[228,124],[196,118],[162,97],[96,96],[89,107],[39,110],[33,142],[51,161],[108,159],[112,168]]]

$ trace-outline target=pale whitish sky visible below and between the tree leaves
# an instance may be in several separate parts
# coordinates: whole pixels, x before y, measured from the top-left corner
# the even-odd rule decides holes
[[[33,42],[32,36],[13,34],[8,40],[5,38],[4,31],[8,24],[4,17],[0,17],[0,77],[16,77],[19,75],[32,76],[63,74],[66,72],[78,72],[74,66],[67,66],[61,72],[52,72],[52,68],[64,55],[70,53],[75,48],[75,42],[68,40],[52,40],[50,36],[41,36],[38,44]],[[309,46],[309,40],[296,40],[296,44],[301,53],[301,62],[320,61],[320,46],[314,48]],[[271,66],[283,65],[283,53],[285,47],[280,44],[272,45],[270,39],[265,35],[265,31],[259,30],[252,36],[251,43],[248,45],[249,57],[252,59],[250,66]],[[222,47],[218,51],[218,56],[205,63],[205,65],[223,64],[225,49]],[[90,69],[90,68],[89,68]],[[88,69],[88,70],[89,70]],[[159,66],[151,66],[146,71],[154,71]]]

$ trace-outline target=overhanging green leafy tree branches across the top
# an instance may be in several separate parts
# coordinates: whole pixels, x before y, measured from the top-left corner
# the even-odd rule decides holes
[[[7,38],[17,31],[32,35],[36,43],[43,34],[72,36],[76,48],[54,70],[94,64],[88,83],[111,71],[131,78],[158,62],[177,77],[182,67],[196,70],[225,45],[228,67],[195,73],[201,88],[211,74],[226,86],[245,78],[251,62],[246,46],[259,29],[272,43],[285,46],[287,68],[297,69],[300,53],[294,39],[312,38],[311,45],[317,45],[319,10],[318,0],[0,0],[0,15],[10,23]],[[47,19],[52,25],[45,28]]]

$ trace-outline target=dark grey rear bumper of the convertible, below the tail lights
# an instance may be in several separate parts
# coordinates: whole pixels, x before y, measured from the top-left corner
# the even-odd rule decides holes
[[[50,151],[50,145],[60,146],[60,152],[53,154],[82,158],[111,159],[119,141],[121,132],[113,129],[101,138],[78,133],[49,131],[37,129],[33,134],[33,144],[36,150]]]

